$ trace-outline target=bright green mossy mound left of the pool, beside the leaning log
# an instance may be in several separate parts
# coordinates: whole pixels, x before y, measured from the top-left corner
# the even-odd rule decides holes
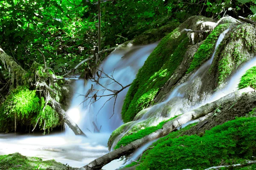
[[[39,98],[36,91],[19,86],[6,96],[0,105],[0,131],[13,131],[17,126],[36,126],[41,130],[61,125],[58,114],[50,106],[44,110],[44,98]]]

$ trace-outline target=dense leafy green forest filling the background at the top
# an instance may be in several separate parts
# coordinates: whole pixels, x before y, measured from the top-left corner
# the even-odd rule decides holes
[[[192,15],[218,19],[224,14],[256,13],[254,0],[101,0],[101,48],[119,45],[150,28]],[[64,74],[97,51],[98,1],[0,1],[0,47],[25,70],[34,61]],[[250,17],[249,16],[249,17]],[[76,73],[83,70],[76,70]],[[1,77],[9,76],[0,68]],[[4,80],[1,78],[0,87]]]

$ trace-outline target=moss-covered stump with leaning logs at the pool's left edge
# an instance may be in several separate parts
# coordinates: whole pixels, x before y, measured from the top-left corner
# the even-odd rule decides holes
[[[21,85],[24,85],[22,90],[24,91],[23,94],[20,94],[20,97],[17,98],[13,93],[9,95],[9,101],[6,101],[7,103],[3,103],[0,107],[1,114],[5,114],[5,116],[1,116],[0,122],[2,127],[5,129],[6,132],[9,131],[9,129],[16,130],[16,121],[20,120],[22,124],[29,125],[34,123],[34,126],[38,124],[38,122],[41,119],[44,120],[43,130],[47,127],[47,120],[49,122],[49,117],[45,117],[45,111],[49,111],[51,109],[47,109],[47,102],[50,102],[49,104],[51,107],[58,113],[58,116],[63,119],[64,122],[67,123],[67,125],[73,130],[73,132],[76,135],[83,135],[85,134],[82,132],[82,130],[78,127],[78,125],[70,119],[70,117],[66,114],[66,112],[61,108],[61,105],[55,101],[51,97],[52,95],[57,95],[59,91],[58,85],[57,90],[53,90],[52,88],[47,85],[46,81],[52,80],[52,74],[45,73],[45,70],[38,69],[34,67],[38,67],[37,64],[32,65],[32,69],[38,69],[37,71],[32,70],[29,72],[26,72],[20,65],[18,65],[12,57],[7,55],[1,48],[0,48],[0,60],[4,64],[4,68],[6,71],[9,71],[10,78],[12,79],[12,85],[15,85],[16,87],[18,85],[18,82]],[[42,68],[42,67],[39,67]],[[36,77],[34,79],[34,77]],[[52,82],[53,84],[53,82]],[[26,87],[30,86],[29,88],[32,90],[28,90]],[[39,89],[38,89],[39,88]],[[35,94],[35,90],[39,91],[39,95]],[[21,91],[22,92],[22,91]],[[25,93],[26,92],[26,93]],[[31,95],[33,93],[33,95]],[[51,94],[50,94],[51,93]],[[27,94],[25,97],[24,94]],[[45,102],[42,103],[42,99],[46,99]],[[15,100],[16,102],[13,102],[12,100]],[[49,111],[52,114],[53,118],[56,118],[55,112]],[[6,114],[7,113],[7,114]],[[10,122],[13,122],[14,124],[9,124]],[[58,124],[58,119],[56,119],[54,122],[49,122],[48,129],[54,127],[54,125]],[[14,128],[9,128],[9,126],[13,126]],[[42,126],[41,126],[42,127]]]

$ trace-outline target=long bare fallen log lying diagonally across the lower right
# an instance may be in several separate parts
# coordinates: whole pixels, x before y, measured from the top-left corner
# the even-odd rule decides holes
[[[90,162],[84,167],[81,167],[80,170],[99,170],[105,164],[108,164],[114,159],[119,159],[121,156],[133,153],[134,150],[141,147],[146,142],[166,136],[167,134],[175,130],[176,127],[183,125],[186,122],[189,122],[190,120],[198,119],[202,116],[205,116],[208,113],[215,111],[216,108],[218,108],[222,103],[233,102],[234,100],[239,99],[243,93],[249,93],[252,91],[254,91],[252,88],[244,88],[239,91],[228,94],[227,96],[224,96],[221,99],[216,100],[215,102],[207,103],[206,105],[201,106],[200,108],[184,113],[183,115],[178,116],[176,119],[172,119],[171,121],[166,122],[163,125],[162,129],[159,129],[149,134],[148,136],[143,137],[142,139],[138,139],[134,142],[131,142],[130,144],[124,147],[120,147],[116,150],[113,150],[112,152],[107,153],[98,159],[95,159],[94,161]]]

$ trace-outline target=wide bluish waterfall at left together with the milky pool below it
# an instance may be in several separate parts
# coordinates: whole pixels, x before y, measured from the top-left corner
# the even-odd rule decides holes
[[[123,86],[128,85],[133,81],[137,71],[143,66],[157,44],[158,42],[142,46],[128,45],[125,48],[113,51],[99,66],[99,70],[103,69],[108,75],[113,73],[117,82]],[[108,78],[101,79],[99,82],[108,89],[119,90],[121,88],[117,83],[111,83],[111,79]],[[82,167],[108,153],[108,138],[113,130],[122,125],[120,112],[128,88],[118,94],[115,114],[112,116],[113,99],[108,101],[100,110],[109,97],[102,97],[91,107],[88,101],[83,102],[84,95],[91,88],[91,85],[94,89],[103,89],[90,80],[85,82],[84,79],[77,79],[74,82],[75,94],[71,100],[70,109],[67,111],[71,119],[79,125],[88,138],[75,136],[67,125],[65,133],[50,133],[45,136],[36,133],[29,135],[16,133],[16,136],[14,134],[0,134],[0,155],[19,152],[25,156],[41,157],[44,160],[55,159],[64,164],[68,163],[72,167]],[[104,94],[109,93],[111,92],[106,91]],[[100,129],[100,133],[91,133],[94,130],[92,122]],[[111,165],[105,169],[113,170],[113,166]]]

